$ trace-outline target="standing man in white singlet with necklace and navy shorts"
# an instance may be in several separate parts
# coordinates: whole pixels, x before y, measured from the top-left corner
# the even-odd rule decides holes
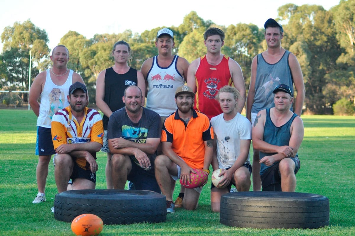
[[[70,85],[82,77],[67,68],[69,51],[64,45],[53,49],[50,59],[53,67],[39,73],[29,90],[28,102],[38,117],[36,155],[39,156],[36,168],[38,194],[32,203],[45,202],[45,184],[48,176],[48,164],[55,154],[51,136],[51,119],[55,112],[69,106],[66,99]],[[38,99],[40,98],[40,103]],[[87,105],[87,104],[86,104]]]

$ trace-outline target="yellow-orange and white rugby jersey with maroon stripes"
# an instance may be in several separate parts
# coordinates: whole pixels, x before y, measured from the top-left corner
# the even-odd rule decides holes
[[[70,106],[55,113],[51,122],[51,133],[54,150],[62,144],[97,142],[102,145],[104,128],[99,112],[85,107],[85,116],[79,124],[72,115]],[[92,154],[96,157],[96,152]],[[90,169],[85,158],[76,158],[78,166]]]

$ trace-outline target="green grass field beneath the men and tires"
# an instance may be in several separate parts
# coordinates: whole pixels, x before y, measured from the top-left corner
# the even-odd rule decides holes
[[[210,190],[205,187],[195,211],[177,209],[167,215],[166,222],[157,224],[105,225],[100,235],[355,235],[355,117],[302,119],[305,137],[299,150],[296,191],[329,198],[328,227],[260,230],[225,226],[219,223],[219,213],[211,212]],[[49,166],[47,202],[32,204],[38,192],[35,124],[32,111],[0,109],[0,234],[74,235],[70,223],[55,220],[50,211],[57,193],[53,165]],[[99,152],[98,189],[106,187],[105,162],[105,155]],[[177,185],[174,198],[179,189]]]

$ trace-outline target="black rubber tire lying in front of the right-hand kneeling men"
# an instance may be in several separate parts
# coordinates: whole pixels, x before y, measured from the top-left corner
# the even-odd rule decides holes
[[[329,199],[295,192],[237,192],[222,195],[220,223],[258,229],[316,229],[329,225]]]

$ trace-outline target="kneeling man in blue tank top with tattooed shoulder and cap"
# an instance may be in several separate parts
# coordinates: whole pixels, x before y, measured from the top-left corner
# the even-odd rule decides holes
[[[294,192],[300,168],[297,151],[303,140],[302,119],[290,111],[293,93],[285,84],[274,90],[275,107],[258,112],[252,129],[253,148],[260,150],[263,191]]]

